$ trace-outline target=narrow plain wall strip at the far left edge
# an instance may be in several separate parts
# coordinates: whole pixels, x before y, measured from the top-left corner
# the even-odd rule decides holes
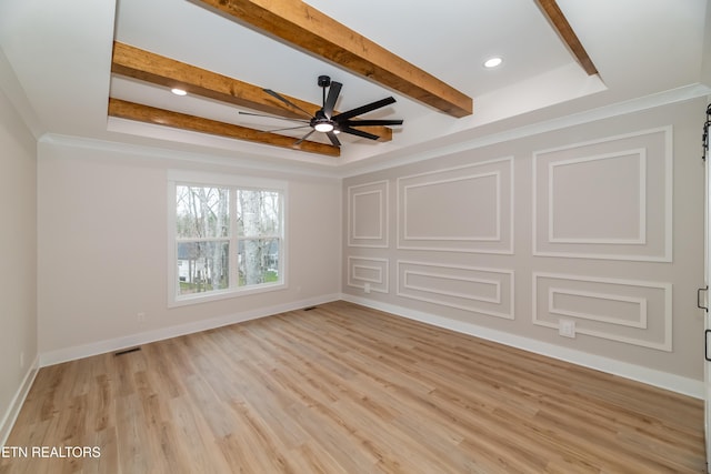
[[[36,369],[36,149],[0,89],[0,445]]]

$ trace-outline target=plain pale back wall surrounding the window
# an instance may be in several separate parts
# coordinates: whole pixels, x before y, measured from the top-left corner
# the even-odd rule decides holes
[[[288,181],[288,289],[167,306],[169,169]],[[38,177],[43,365],[301,307],[340,292],[339,180],[56,141],[40,142]]]

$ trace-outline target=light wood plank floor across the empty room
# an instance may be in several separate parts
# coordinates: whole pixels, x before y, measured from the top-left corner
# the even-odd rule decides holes
[[[0,473],[700,473],[701,401],[337,302],[42,369]]]

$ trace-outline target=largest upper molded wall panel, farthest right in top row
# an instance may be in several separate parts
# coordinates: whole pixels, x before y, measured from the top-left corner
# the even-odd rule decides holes
[[[670,262],[671,127],[533,153],[533,254]]]

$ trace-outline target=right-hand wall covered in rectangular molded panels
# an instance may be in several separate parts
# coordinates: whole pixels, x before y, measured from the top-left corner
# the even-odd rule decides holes
[[[697,99],[344,180],[347,297],[701,396],[704,111]]]

